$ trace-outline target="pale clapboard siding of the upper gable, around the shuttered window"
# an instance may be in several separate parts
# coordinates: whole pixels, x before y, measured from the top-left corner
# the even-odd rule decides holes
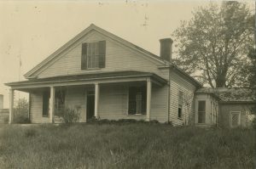
[[[81,70],[81,44],[83,42],[98,42],[102,40],[106,41],[106,68]],[[168,78],[165,73],[166,70],[159,70],[157,65],[159,63],[156,63],[154,59],[149,59],[147,56],[131,50],[131,48],[127,48],[119,42],[113,41],[113,39],[105,37],[96,31],[91,31],[90,34],[57,56],[54,61],[44,67],[44,70],[38,70],[35,76],[42,78],[89,72],[139,70],[154,72],[159,76]]]

